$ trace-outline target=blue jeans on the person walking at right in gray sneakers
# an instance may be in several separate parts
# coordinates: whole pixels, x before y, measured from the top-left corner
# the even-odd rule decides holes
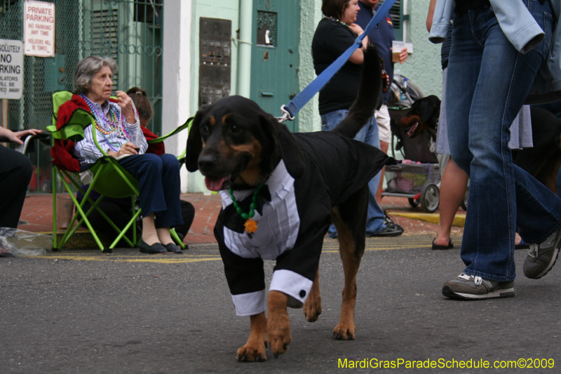
[[[515,166],[508,149],[508,128],[548,53],[553,28],[549,1],[524,2],[546,32],[539,46],[518,53],[484,6],[454,21],[448,65],[450,151],[470,177],[461,259],[464,272],[494,281],[515,279],[517,225],[525,243],[539,243],[561,226],[561,199]]]

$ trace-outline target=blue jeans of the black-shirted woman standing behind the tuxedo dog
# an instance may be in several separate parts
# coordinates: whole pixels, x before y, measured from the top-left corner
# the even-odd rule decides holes
[[[335,112],[330,112],[321,116],[322,130],[330,131],[332,128],[337,126],[339,122],[343,121],[346,114],[349,111],[346,109],[336,110]],[[376,123],[376,118],[372,116],[370,121],[358,131],[355,140],[360,142],[365,142],[370,144],[377,149],[380,149],[380,135],[378,130],[378,123]],[[368,201],[368,218],[366,221],[366,235],[372,236],[383,230],[386,225],[384,225],[384,211],[378,205],[376,200],[376,191],[378,189],[378,184],[380,182],[381,172],[374,176],[368,182],[369,201]],[[329,237],[332,238],[337,234],[334,225],[331,225],[328,230]]]

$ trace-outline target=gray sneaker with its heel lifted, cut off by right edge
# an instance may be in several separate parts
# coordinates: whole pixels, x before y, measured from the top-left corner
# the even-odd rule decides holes
[[[561,246],[561,228],[539,244],[532,244],[524,262],[524,275],[529,279],[539,279],[548,274],[555,265]]]

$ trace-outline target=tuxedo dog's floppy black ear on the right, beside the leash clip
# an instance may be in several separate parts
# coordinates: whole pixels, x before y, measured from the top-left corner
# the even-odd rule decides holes
[[[261,124],[266,134],[272,135],[272,141],[278,148],[280,157],[285,161],[286,170],[292,178],[299,179],[304,175],[304,153],[300,149],[296,138],[288,127],[278,123],[271,114],[261,116]]]

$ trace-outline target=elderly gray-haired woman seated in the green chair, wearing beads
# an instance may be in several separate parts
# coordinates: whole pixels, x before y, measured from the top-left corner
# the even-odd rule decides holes
[[[82,171],[90,168],[103,154],[115,157],[139,183],[142,208],[142,253],[182,253],[175,246],[170,227],[182,225],[180,203],[180,164],[170,154],[146,153],[146,138],[142,135],[140,120],[133,100],[116,91],[116,100],[110,99],[113,74],[119,67],[111,58],[90,56],[81,60],[74,72],[72,100],[60,106],[61,112],[80,107],[95,119],[94,126],[84,130],[84,139],[76,142],[74,155]],[[64,121],[65,116],[58,116]],[[57,123],[57,127],[63,123]]]

